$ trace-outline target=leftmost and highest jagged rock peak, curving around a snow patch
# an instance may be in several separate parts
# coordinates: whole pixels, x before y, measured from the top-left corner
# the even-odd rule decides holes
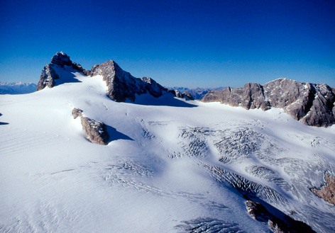
[[[60,76],[56,74],[55,67],[72,67],[76,69],[78,72],[82,72],[83,74],[90,74],[90,72],[86,69],[83,69],[80,64],[72,63],[70,57],[66,55],[64,52],[57,52],[56,55],[51,58],[50,64],[46,64],[42,70],[42,74],[40,75],[40,81],[38,81],[38,85],[36,87],[37,91],[40,91],[48,86],[52,88],[55,86],[55,79],[59,79]]]

